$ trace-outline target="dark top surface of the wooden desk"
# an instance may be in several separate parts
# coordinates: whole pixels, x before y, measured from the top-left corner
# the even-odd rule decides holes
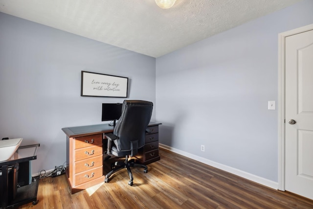
[[[161,123],[156,123],[150,121],[149,126],[160,125]],[[92,134],[101,134],[112,132],[114,129],[113,126],[110,126],[108,123],[97,124],[97,125],[88,125],[88,126],[75,126],[62,128],[62,131],[67,135],[67,137],[83,137],[87,136],[90,133]]]

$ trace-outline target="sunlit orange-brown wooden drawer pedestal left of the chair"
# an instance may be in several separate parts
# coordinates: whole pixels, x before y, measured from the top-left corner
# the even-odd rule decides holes
[[[104,181],[103,134],[67,137],[67,177],[72,193]]]

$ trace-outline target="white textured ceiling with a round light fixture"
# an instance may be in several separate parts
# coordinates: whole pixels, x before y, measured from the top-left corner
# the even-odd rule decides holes
[[[301,0],[0,0],[0,12],[159,57]]]

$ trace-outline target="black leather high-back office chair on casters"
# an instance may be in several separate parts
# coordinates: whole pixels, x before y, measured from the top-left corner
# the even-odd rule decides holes
[[[116,157],[125,157],[125,162],[115,162],[112,170],[106,175],[104,182],[108,183],[111,175],[122,168],[126,168],[130,181],[128,184],[133,186],[133,174],[130,167],[139,166],[148,172],[148,167],[143,164],[128,161],[129,157],[137,154],[139,148],[145,144],[145,131],[151,119],[153,103],[141,100],[124,100],[122,115],[118,119],[113,134],[108,133],[107,153]],[[114,142],[114,145],[111,142]]]

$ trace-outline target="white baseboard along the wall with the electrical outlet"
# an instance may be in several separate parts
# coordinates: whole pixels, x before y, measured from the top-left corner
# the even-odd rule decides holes
[[[175,148],[167,146],[165,144],[161,144],[160,143],[159,146],[161,148],[164,148],[164,149],[170,150],[172,152],[175,152],[175,153],[177,153],[179,155],[185,156],[187,158],[191,158],[191,159],[193,159],[195,161],[199,161],[199,162],[207,164],[207,165],[211,165],[213,167],[216,167],[216,168],[219,168],[221,170],[227,171],[229,173],[235,174],[237,176],[243,177],[245,179],[248,179],[250,181],[256,182],[258,184],[261,184],[261,185],[264,185],[264,186],[268,186],[268,187],[273,188],[273,189],[278,189],[278,182],[273,182],[271,180],[268,180],[268,179],[265,179],[263,177],[259,177],[259,176],[253,175],[251,173],[247,173],[247,172],[239,170],[237,168],[233,168],[233,167],[230,167],[228,165],[224,165],[224,164],[221,164],[221,163],[216,163],[214,161],[207,160],[205,158],[199,157],[199,156],[194,155],[194,154],[190,154],[190,153],[185,152],[185,151],[181,151],[179,149],[175,149]]]

